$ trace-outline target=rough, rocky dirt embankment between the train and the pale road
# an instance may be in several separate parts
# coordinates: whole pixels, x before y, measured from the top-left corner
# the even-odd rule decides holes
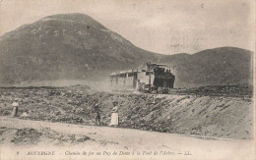
[[[20,99],[19,116],[32,120],[95,125],[93,105],[99,101],[102,125],[108,125],[112,102],[118,101],[123,128],[229,138],[253,134],[250,98],[109,93],[82,86],[1,88],[0,114],[11,114],[14,98]]]

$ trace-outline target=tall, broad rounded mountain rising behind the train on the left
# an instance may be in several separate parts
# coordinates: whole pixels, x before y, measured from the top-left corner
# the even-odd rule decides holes
[[[113,71],[156,61],[158,56],[87,15],[54,15],[1,37],[1,82],[98,80]]]

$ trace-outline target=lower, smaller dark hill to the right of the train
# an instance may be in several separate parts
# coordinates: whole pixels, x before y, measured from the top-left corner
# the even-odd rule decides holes
[[[176,87],[252,84],[253,53],[221,47],[189,54],[165,56],[161,62],[174,68]]]

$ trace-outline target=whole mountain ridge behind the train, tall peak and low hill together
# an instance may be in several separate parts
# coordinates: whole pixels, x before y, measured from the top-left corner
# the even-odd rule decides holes
[[[252,52],[234,47],[161,55],[140,49],[83,14],[45,17],[0,37],[1,85],[40,80],[107,80],[112,72],[169,64],[175,87],[248,84]]]

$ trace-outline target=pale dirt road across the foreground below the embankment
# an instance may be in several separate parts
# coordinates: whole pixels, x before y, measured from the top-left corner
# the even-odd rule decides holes
[[[147,156],[153,157],[153,153],[158,151],[160,156],[163,158],[207,158],[215,157],[221,159],[250,159],[253,153],[253,141],[251,140],[236,140],[236,139],[224,139],[224,138],[213,138],[213,137],[200,137],[200,136],[189,136],[173,133],[156,133],[156,132],[145,132],[131,129],[119,129],[109,127],[93,127],[93,126],[82,126],[82,125],[70,125],[60,123],[49,123],[31,120],[13,119],[7,117],[1,117],[1,127],[8,127],[13,129],[24,129],[32,128],[35,130],[41,130],[42,128],[49,128],[57,133],[70,133],[70,134],[83,134],[89,136],[93,140],[85,141],[83,143],[66,143],[63,145],[53,145],[52,142],[42,141],[37,145],[26,146],[28,149],[53,149],[59,154],[56,156],[65,155],[67,159],[71,155],[66,155],[66,151],[76,152],[78,149],[82,150],[101,150],[103,151],[123,151],[131,152],[139,151],[141,154],[144,151],[153,151],[149,155],[140,155],[144,158]],[[3,147],[5,146],[5,147]],[[46,147],[45,147],[46,146]],[[5,152],[14,152],[18,149],[24,149],[24,145],[17,146],[14,144],[1,145],[1,150]],[[9,149],[9,150],[8,150]],[[10,150],[11,149],[11,150]],[[166,154],[164,154],[164,151]],[[191,155],[185,155],[186,153]],[[106,153],[105,153],[106,154]],[[171,154],[171,155],[169,155]],[[174,155],[172,155],[174,154]],[[15,155],[14,155],[15,156]],[[72,155],[75,156],[75,155]],[[102,156],[102,155],[101,155]],[[129,158],[131,155],[126,155]],[[28,158],[28,155],[27,155]],[[37,157],[38,158],[38,157]],[[40,158],[40,157],[39,157]],[[76,158],[83,158],[82,155],[76,155]],[[119,157],[120,158],[120,157]],[[142,157],[141,157],[142,158]],[[155,156],[156,158],[156,156]]]

